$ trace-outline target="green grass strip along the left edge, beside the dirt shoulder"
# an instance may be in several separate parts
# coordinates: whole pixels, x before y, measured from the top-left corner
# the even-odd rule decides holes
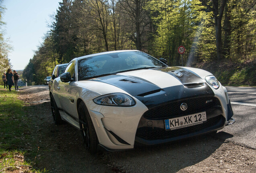
[[[47,172],[33,169],[34,161],[24,159],[28,152],[25,143],[31,141],[31,136],[27,135],[31,122],[25,115],[26,109],[17,92],[0,86],[0,172],[16,169],[26,173]]]

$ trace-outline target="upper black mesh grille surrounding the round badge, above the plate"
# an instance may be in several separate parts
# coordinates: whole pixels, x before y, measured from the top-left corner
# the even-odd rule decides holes
[[[188,109],[186,109],[186,111],[182,111],[180,109],[180,105],[182,103],[186,103],[188,105]],[[216,105],[220,105],[220,102],[216,97],[196,97],[154,107],[145,112],[143,116],[147,119],[167,119],[198,113]]]

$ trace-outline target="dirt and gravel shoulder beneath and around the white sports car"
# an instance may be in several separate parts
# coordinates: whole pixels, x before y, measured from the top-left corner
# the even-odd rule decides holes
[[[92,156],[83,148],[78,129],[54,124],[48,90],[21,88],[19,99],[27,103],[26,115],[33,122],[33,141],[25,148],[37,152],[36,167],[51,173],[256,173],[255,149],[219,139],[218,133]]]

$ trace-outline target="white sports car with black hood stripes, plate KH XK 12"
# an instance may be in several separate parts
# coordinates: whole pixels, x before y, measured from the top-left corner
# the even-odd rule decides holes
[[[56,124],[97,152],[216,132],[235,122],[227,90],[205,70],[167,66],[137,50],[74,58],[50,90]]]

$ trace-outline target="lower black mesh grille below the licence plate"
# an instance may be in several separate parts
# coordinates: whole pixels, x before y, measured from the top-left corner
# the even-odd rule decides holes
[[[217,117],[207,119],[206,123],[169,131],[166,131],[165,129],[161,128],[140,127],[137,129],[136,137],[149,140],[166,139],[178,137],[180,135],[187,135],[190,133],[198,132],[203,129],[207,129],[207,131],[210,131],[222,127],[224,123],[225,118],[222,115],[219,115]]]

